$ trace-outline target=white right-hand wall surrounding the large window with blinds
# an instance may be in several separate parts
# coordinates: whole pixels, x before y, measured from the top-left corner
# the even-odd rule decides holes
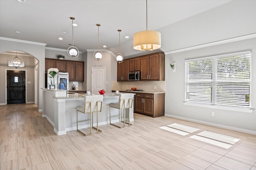
[[[252,50],[252,113],[184,105],[185,59]],[[256,38],[166,55],[165,115],[256,134]],[[176,62],[176,72],[170,63]],[[215,116],[212,116],[215,112]]]

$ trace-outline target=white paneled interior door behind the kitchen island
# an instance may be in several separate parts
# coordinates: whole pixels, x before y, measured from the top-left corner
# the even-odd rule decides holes
[[[92,67],[92,94],[100,94],[102,89],[105,90],[105,68]]]

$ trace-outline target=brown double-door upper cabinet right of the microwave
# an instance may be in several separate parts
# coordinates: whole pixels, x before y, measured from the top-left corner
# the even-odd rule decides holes
[[[164,81],[164,53],[141,56],[140,80]]]

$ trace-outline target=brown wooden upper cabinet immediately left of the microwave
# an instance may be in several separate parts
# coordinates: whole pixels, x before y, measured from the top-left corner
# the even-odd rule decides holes
[[[129,60],[124,60],[122,63],[117,63],[117,81],[128,81],[129,78]]]

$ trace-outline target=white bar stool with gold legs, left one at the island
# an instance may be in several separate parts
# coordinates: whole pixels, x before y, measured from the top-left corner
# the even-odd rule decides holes
[[[90,121],[90,133],[85,134],[82,131],[85,136],[92,135],[92,127],[93,127],[93,114],[94,112],[97,112],[97,127],[93,127],[94,129],[97,129],[97,133],[101,133],[102,131],[98,129],[98,112],[102,111],[102,100],[103,95],[88,95],[84,96],[84,106],[77,106],[76,107],[76,130],[80,131],[78,129],[78,122],[82,121]],[[90,119],[84,119],[78,121],[78,112],[81,113],[90,113]]]

